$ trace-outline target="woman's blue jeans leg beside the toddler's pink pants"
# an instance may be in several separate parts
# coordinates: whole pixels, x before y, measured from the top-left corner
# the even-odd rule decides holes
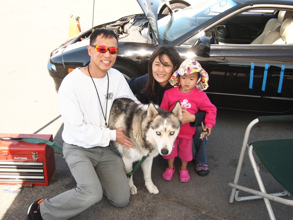
[[[209,137],[207,139],[203,138],[200,139],[200,132],[202,131],[202,126],[197,126],[195,134],[193,135],[193,142],[195,146],[195,153],[196,157],[195,160],[198,163],[201,164],[207,164],[207,154],[205,152],[205,145],[207,145],[207,141],[209,140]]]

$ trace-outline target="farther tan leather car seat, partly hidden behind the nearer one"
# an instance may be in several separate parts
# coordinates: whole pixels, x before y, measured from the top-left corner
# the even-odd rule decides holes
[[[253,40],[250,44],[262,44],[263,39],[265,38],[265,35],[269,31],[280,31],[280,27],[282,23],[287,18],[293,17],[293,11],[279,11],[278,18],[272,18],[268,20],[268,22],[265,24],[265,28],[263,30],[263,33],[261,33],[255,40]]]

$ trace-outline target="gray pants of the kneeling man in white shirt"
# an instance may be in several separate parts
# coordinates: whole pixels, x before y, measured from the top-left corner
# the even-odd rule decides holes
[[[102,199],[124,207],[130,188],[120,156],[111,146],[82,148],[64,143],[63,155],[76,180],[77,187],[40,204],[44,220],[65,220],[79,214]]]

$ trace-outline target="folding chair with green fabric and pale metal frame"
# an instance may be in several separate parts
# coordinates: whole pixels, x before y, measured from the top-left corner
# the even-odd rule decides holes
[[[234,182],[229,183],[229,186],[233,188],[229,200],[230,203],[233,203],[234,198],[236,201],[264,199],[270,219],[275,219],[270,200],[293,206],[293,200],[281,198],[281,196],[289,196],[293,193],[293,139],[255,141],[248,145],[248,137],[251,128],[258,122],[277,121],[293,121],[293,115],[261,116],[249,123],[244,135],[243,145],[241,148]],[[246,148],[248,148],[248,156],[253,167],[253,171],[257,179],[260,191],[238,185]],[[268,171],[272,174],[272,176],[285,188],[284,192],[277,192],[272,194],[266,193],[263,181],[260,177],[258,166],[253,157],[252,150],[255,151],[255,154],[258,156],[263,165],[268,169]],[[272,163],[272,161],[274,161],[274,163]],[[238,197],[239,190],[248,192],[253,195]]]

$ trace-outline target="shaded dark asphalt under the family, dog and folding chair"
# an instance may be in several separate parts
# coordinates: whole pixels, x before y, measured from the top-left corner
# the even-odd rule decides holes
[[[138,192],[136,195],[130,196],[130,202],[126,207],[114,207],[103,197],[99,203],[71,219],[269,219],[262,199],[229,203],[231,188],[228,186],[228,183],[234,180],[246,126],[253,119],[263,115],[265,114],[218,110],[217,124],[213,128],[206,148],[210,167],[208,176],[198,176],[194,172],[195,165],[189,162],[188,169],[191,180],[185,183],[180,182],[180,160],[176,158],[176,172],[173,179],[171,181],[163,180],[161,176],[167,162],[158,156],[154,159],[152,166],[152,179],[159,189],[159,194],[150,194],[147,191],[144,187],[142,170],[139,168],[133,175]],[[63,125],[54,138],[54,141],[60,146],[63,145],[62,130]],[[279,124],[272,126],[262,124],[253,128],[250,141],[260,137],[268,139],[292,138],[292,130],[293,125],[288,123],[282,124],[282,129]],[[61,152],[55,151],[55,163],[56,170],[50,185],[24,188],[21,194],[16,196],[3,219],[24,219],[28,207],[35,200],[54,197],[76,187],[75,180]],[[259,161],[257,163],[262,171],[261,175],[267,191],[282,191],[283,188],[280,184],[269,175]],[[239,183],[256,188],[257,183],[247,157],[242,169]],[[6,193],[5,196],[9,196],[9,194]],[[293,199],[292,195],[288,199]],[[271,202],[271,204],[277,219],[293,218],[292,207],[276,202]]]

